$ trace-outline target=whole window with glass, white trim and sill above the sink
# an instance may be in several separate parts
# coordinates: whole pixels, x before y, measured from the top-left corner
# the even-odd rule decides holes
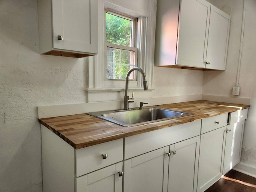
[[[130,26],[130,35],[122,36],[119,33],[119,39],[116,39],[112,38],[112,33],[109,32],[110,36],[108,36],[106,34],[106,17],[108,16]],[[134,66],[144,70],[150,90],[143,91],[142,76],[136,71],[130,75],[129,90],[140,92],[136,94],[136,98],[138,96],[140,98],[151,97],[155,23],[156,0],[98,0],[98,22],[94,23],[98,25],[98,31],[95,32],[95,34],[98,33],[98,54],[85,59],[87,63],[85,72],[88,74],[86,76],[86,102],[122,100],[126,72]],[[120,26],[119,24],[118,28]],[[110,64],[108,67],[107,60]]]

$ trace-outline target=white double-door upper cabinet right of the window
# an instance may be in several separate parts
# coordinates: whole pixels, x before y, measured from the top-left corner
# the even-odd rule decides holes
[[[230,16],[205,0],[158,0],[156,19],[156,66],[225,70]]]

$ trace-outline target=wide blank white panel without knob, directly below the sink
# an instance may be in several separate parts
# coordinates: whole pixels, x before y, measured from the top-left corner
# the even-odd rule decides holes
[[[124,159],[200,135],[201,120],[150,131],[125,138]]]

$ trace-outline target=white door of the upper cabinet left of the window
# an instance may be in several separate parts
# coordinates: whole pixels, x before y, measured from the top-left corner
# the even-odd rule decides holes
[[[53,48],[97,53],[98,1],[52,0],[52,20]]]

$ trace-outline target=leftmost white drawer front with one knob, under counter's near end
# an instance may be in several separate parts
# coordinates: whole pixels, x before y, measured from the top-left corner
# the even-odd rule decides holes
[[[102,155],[107,154],[104,159]],[[118,139],[76,150],[76,176],[123,160],[123,139]]]

